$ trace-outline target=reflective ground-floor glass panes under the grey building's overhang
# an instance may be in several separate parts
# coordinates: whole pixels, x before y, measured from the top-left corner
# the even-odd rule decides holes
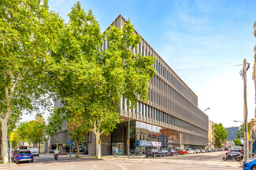
[[[112,150],[128,153],[128,122],[120,123],[111,134]],[[145,153],[149,149],[180,149],[180,132],[140,121],[130,122],[130,154]]]

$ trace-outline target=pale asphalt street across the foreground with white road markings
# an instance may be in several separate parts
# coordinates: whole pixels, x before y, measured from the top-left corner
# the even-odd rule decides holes
[[[239,168],[240,162],[222,161],[225,152],[213,152],[206,154],[179,155],[172,157],[138,157],[126,156],[113,157],[104,156],[102,160],[95,160],[91,156],[75,158],[69,155],[60,155],[58,161],[54,161],[54,154],[41,154],[35,157],[34,163],[13,164],[11,169],[113,169],[113,170],[153,170],[153,169],[203,169],[203,170],[223,170],[223,169],[242,169]]]

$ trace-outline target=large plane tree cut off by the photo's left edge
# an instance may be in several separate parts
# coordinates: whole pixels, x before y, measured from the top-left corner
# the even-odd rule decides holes
[[[23,111],[46,106],[51,87],[48,58],[56,52],[63,20],[47,1],[0,2],[0,121],[2,160],[8,162],[7,125]]]

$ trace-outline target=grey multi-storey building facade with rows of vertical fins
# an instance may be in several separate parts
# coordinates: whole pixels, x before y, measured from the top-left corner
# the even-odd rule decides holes
[[[123,28],[125,22],[124,17],[120,15],[111,25]],[[137,31],[134,30],[134,32],[138,34]],[[102,49],[108,49],[108,41],[104,42]],[[171,147],[175,141],[179,141],[179,148],[181,149],[184,147],[206,147],[208,143],[208,116],[198,108],[198,97],[195,93],[142,37],[137,49],[132,50],[134,53],[141,52],[142,56],[155,56],[154,69],[157,74],[150,78],[147,103],[138,99],[137,107],[129,109],[126,106],[126,99],[121,99],[121,104],[117,111],[120,113],[120,118],[124,120],[122,122],[124,125],[122,125],[123,129],[120,133],[121,142],[116,141],[115,145],[122,146],[125,154],[127,148],[126,140],[128,139],[126,123],[130,118],[131,121],[135,122],[134,132],[140,132],[140,134],[145,132],[147,136],[152,138],[152,141],[153,139],[159,141],[159,136],[161,136],[162,140],[164,139],[163,136],[165,136],[165,142],[168,142],[168,146]],[[61,107],[59,101],[55,102],[55,106]],[[150,131],[146,128],[145,130],[140,128],[139,122],[147,126],[150,125],[151,129],[161,129],[158,132],[153,132],[153,130]],[[65,127],[63,128],[65,129]],[[63,144],[69,141],[69,136],[65,135],[65,132],[67,132],[67,129],[58,134],[59,141]],[[116,134],[116,132],[113,132],[113,134]],[[113,134],[101,136],[103,155],[111,154],[113,150],[113,141],[115,139]],[[90,133],[89,136],[85,141],[88,144],[88,154],[95,155],[95,135]],[[141,136],[145,136],[145,134],[139,137],[135,136],[136,151],[138,151],[139,141],[143,140]],[[54,145],[54,142],[54,139],[51,138],[51,145]]]

